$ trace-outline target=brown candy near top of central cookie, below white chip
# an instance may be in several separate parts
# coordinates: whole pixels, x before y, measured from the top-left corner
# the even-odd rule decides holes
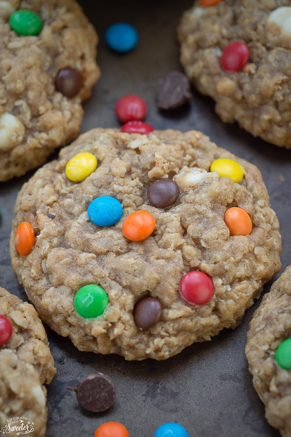
[[[179,187],[172,179],[158,179],[147,188],[147,199],[156,208],[173,205],[179,196]]]

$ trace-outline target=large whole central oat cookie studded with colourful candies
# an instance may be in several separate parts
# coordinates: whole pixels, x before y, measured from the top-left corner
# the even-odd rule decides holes
[[[249,235],[230,235],[230,207]],[[235,328],[280,269],[259,169],[197,131],[82,134],[22,187],[15,214],[18,280],[81,351],[166,359]]]

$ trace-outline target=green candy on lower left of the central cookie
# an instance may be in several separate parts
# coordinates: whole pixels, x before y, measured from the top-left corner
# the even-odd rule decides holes
[[[103,288],[89,284],[77,291],[74,304],[77,313],[84,319],[101,316],[108,305],[108,296]]]

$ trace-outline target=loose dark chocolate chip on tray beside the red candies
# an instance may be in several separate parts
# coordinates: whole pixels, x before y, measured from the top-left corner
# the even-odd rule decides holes
[[[171,71],[159,84],[157,104],[160,109],[176,109],[191,99],[187,77],[180,71]]]

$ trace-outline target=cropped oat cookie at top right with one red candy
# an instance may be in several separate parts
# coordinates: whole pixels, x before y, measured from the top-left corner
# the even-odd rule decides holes
[[[254,136],[291,148],[290,1],[207,3],[217,4],[196,1],[178,26],[189,80],[216,102],[224,122],[237,121]]]

